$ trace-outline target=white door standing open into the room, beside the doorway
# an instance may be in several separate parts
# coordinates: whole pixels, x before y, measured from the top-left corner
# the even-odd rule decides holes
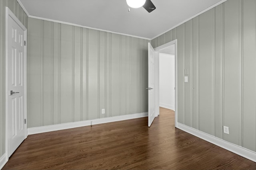
[[[154,48],[148,43],[148,127],[151,126],[156,115],[155,55],[156,52],[154,51]]]

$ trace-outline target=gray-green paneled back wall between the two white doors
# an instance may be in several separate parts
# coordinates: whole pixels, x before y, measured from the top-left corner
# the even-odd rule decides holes
[[[29,18],[28,127],[147,112],[147,44]]]

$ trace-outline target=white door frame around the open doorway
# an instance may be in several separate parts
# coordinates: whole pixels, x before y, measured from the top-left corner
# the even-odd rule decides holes
[[[178,92],[177,91],[177,89],[178,89],[178,81],[177,81],[177,75],[178,75],[177,74],[177,39],[175,39],[175,40],[173,40],[173,41],[171,41],[169,43],[160,45],[160,46],[158,46],[158,47],[156,47],[154,49],[155,49],[155,51],[159,52],[162,49],[170,47],[171,45],[175,45],[175,47],[174,47],[174,49],[175,49],[175,54],[174,54],[175,55],[175,57],[174,57],[175,58],[175,106],[174,107],[175,107],[175,127],[177,127],[177,121],[178,121],[178,104],[177,104],[177,96],[178,96],[178,93],[177,93]],[[158,60],[159,60],[159,57],[158,57]],[[156,63],[159,64],[159,61],[156,62]],[[159,66],[158,66],[158,68],[159,68]],[[158,79],[159,79],[159,74],[158,74]],[[158,92],[156,91],[156,95],[159,96],[159,89],[158,89]]]

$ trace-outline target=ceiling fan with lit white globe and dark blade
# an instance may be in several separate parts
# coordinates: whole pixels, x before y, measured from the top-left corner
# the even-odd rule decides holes
[[[126,0],[126,3],[131,8],[140,8],[143,6],[148,12],[152,12],[156,9],[156,6],[154,6],[151,0]],[[130,11],[130,8],[128,11]]]

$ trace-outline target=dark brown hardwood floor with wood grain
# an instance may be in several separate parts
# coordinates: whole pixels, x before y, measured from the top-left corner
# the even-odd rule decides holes
[[[256,169],[256,163],[174,127],[174,112],[29,135],[3,170]]]

